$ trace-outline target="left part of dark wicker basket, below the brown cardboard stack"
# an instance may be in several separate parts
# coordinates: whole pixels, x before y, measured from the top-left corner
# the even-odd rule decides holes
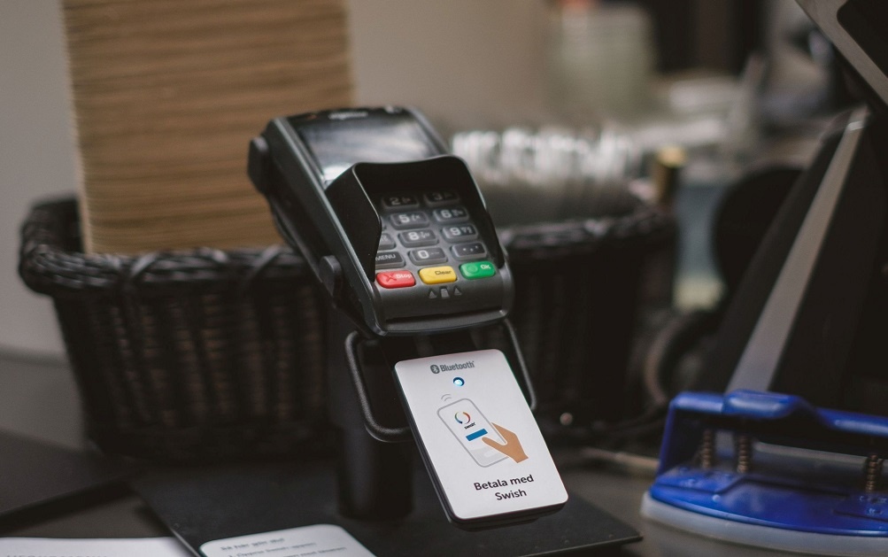
[[[73,200],[36,205],[20,275],[55,304],[88,434],[199,461],[324,450],[324,308],[286,248],[85,255]]]

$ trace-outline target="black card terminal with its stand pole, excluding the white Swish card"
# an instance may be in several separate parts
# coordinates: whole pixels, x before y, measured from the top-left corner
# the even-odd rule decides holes
[[[412,509],[403,444],[412,434],[392,377],[395,362],[476,350],[472,330],[499,325],[511,344],[506,357],[534,406],[514,331],[504,321],[514,287],[503,248],[468,168],[446,153],[422,115],[400,107],[275,118],[250,143],[250,179],[338,310],[328,322],[329,410],[340,435],[339,509],[352,518],[399,518]],[[376,258],[384,227],[400,234],[392,224],[397,213],[383,207],[385,195],[403,194],[433,220],[440,214],[430,200],[441,192],[471,216],[496,272],[461,280],[459,290],[418,281],[414,288],[381,287]],[[402,257],[403,268],[414,274],[423,266],[411,257]]]

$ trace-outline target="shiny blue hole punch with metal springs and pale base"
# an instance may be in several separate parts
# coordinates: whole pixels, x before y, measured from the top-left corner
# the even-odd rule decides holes
[[[679,394],[642,514],[733,543],[888,555],[885,455],[888,418],[788,394]]]

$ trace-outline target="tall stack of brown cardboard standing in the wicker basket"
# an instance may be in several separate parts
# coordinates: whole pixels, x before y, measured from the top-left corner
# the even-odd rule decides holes
[[[63,0],[86,251],[279,242],[246,177],[278,115],[352,99],[342,0]]]

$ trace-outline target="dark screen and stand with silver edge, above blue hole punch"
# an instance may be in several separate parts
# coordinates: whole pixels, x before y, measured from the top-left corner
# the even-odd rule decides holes
[[[797,1],[867,103],[844,115],[792,187],[696,387],[888,416],[888,1]]]

